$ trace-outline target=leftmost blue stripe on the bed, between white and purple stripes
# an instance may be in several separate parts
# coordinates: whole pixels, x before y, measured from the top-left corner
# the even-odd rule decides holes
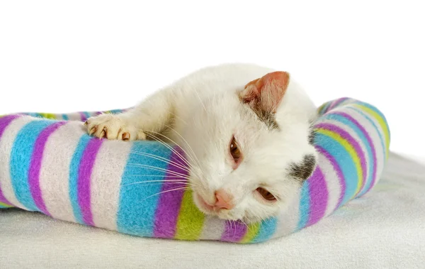
[[[41,131],[55,122],[43,120],[31,121],[26,124],[18,132],[11,150],[10,173],[13,190],[18,201],[30,211],[39,211],[35,206],[28,184],[28,171],[30,170],[34,144]]]

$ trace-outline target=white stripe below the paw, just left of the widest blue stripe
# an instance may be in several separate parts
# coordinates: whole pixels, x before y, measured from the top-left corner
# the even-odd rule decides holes
[[[103,141],[91,173],[91,212],[98,227],[116,230],[121,177],[131,143]]]

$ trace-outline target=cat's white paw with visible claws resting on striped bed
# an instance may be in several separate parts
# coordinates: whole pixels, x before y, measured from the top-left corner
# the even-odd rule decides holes
[[[125,120],[113,114],[101,114],[89,118],[84,125],[90,136],[110,140],[134,141],[145,140],[146,135]]]

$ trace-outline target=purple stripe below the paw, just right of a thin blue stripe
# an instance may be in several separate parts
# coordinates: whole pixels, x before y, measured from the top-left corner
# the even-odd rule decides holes
[[[102,146],[102,139],[92,138],[84,150],[78,170],[78,204],[81,209],[83,221],[94,226],[91,214],[91,172],[96,161],[96,155]]]

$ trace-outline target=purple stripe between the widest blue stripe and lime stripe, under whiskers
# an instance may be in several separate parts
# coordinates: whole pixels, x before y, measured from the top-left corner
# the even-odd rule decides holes
[[[179,147],[175,147],[174,150],[183,156],[183,151]],[[184,190],[171,190],[186,187],[183,182],[186,182],[187,179],[176,176],[176,173],[188,175],[188,172],[181,168],[180,164],[184,161],[174,150],[171,153],[170,160],[177,165],[169,163],[165,179],[179,180],[179,183],[165,182],[162,185],[161,192],[163,193],[159,196],[157,211],[155,212],[154,237],[174,238],[176,234],[177,219],[179,218]]]

